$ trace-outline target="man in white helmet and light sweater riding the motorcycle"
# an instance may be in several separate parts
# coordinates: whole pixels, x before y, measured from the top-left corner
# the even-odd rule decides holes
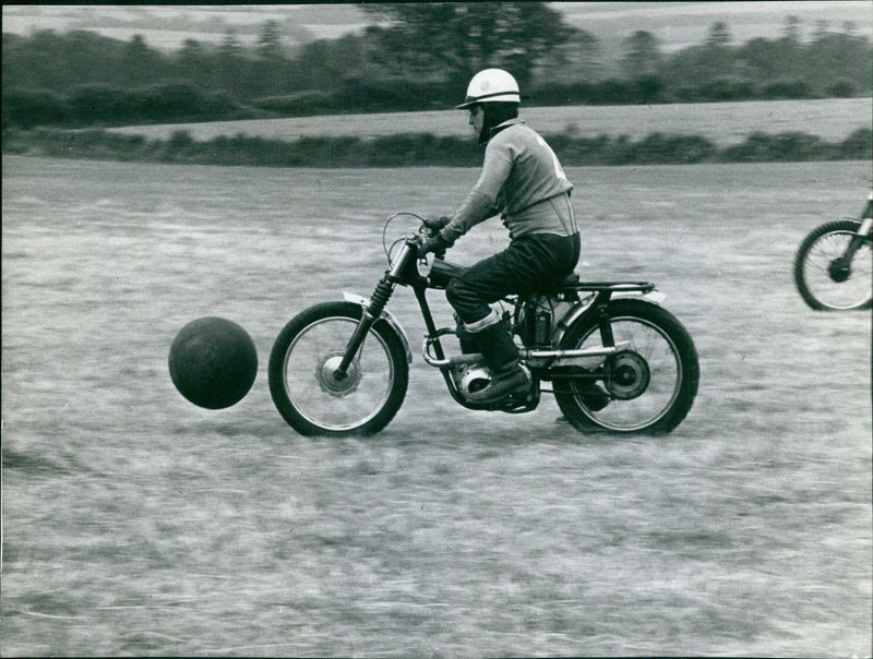
[[[468,396],[492,403],[529,386],[518,364],[518,349],[489,303],[507,295],[528,295],[573,272],[579,257],[579,235],[570,202],[573,184],[551,147],[518,118],[518,83],[502,69],[473,76],[467,97],[469,123],[487,144],[478,182],[451,217],[428,220],[435,231],[421,254],[452,247],[480,221],[502,214],[510,245],[463,271],[449,283],[446,299],[482,352],[492,379]]]

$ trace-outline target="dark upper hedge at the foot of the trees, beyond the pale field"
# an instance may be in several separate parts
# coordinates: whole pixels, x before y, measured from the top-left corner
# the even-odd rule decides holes
[[[829,96],[853,96],[846,81],[836,81]],[[444,109],[450,89],[430,83],[380,84],[346,82],[332,92],[307,91],[255,98],[242,106],[222,93],[207,93],[191,83],[164,83],[136,88],[107,84],[79,85],[68,94],[45,89],[3,89],[3,128],[95,128],[137,123],[184,123],[255,117],[291,117],[387,110]],[[645,103],[697,103],[814,98],[803,81],[777,81],[755,85],[722,76],[693,88],[668,92],[657,76],[637,81],[605,80],[591,83],[542,85],[531,91],[538,106],[624,105]]]

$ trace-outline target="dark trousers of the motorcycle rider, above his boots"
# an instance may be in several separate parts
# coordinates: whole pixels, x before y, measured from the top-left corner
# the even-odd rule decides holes
[[[528,233],[502,252],[468,267],[449,283],[445,297],[464,323],[491,314],[490,302],[547,288],[576,267],[579,235]]]

